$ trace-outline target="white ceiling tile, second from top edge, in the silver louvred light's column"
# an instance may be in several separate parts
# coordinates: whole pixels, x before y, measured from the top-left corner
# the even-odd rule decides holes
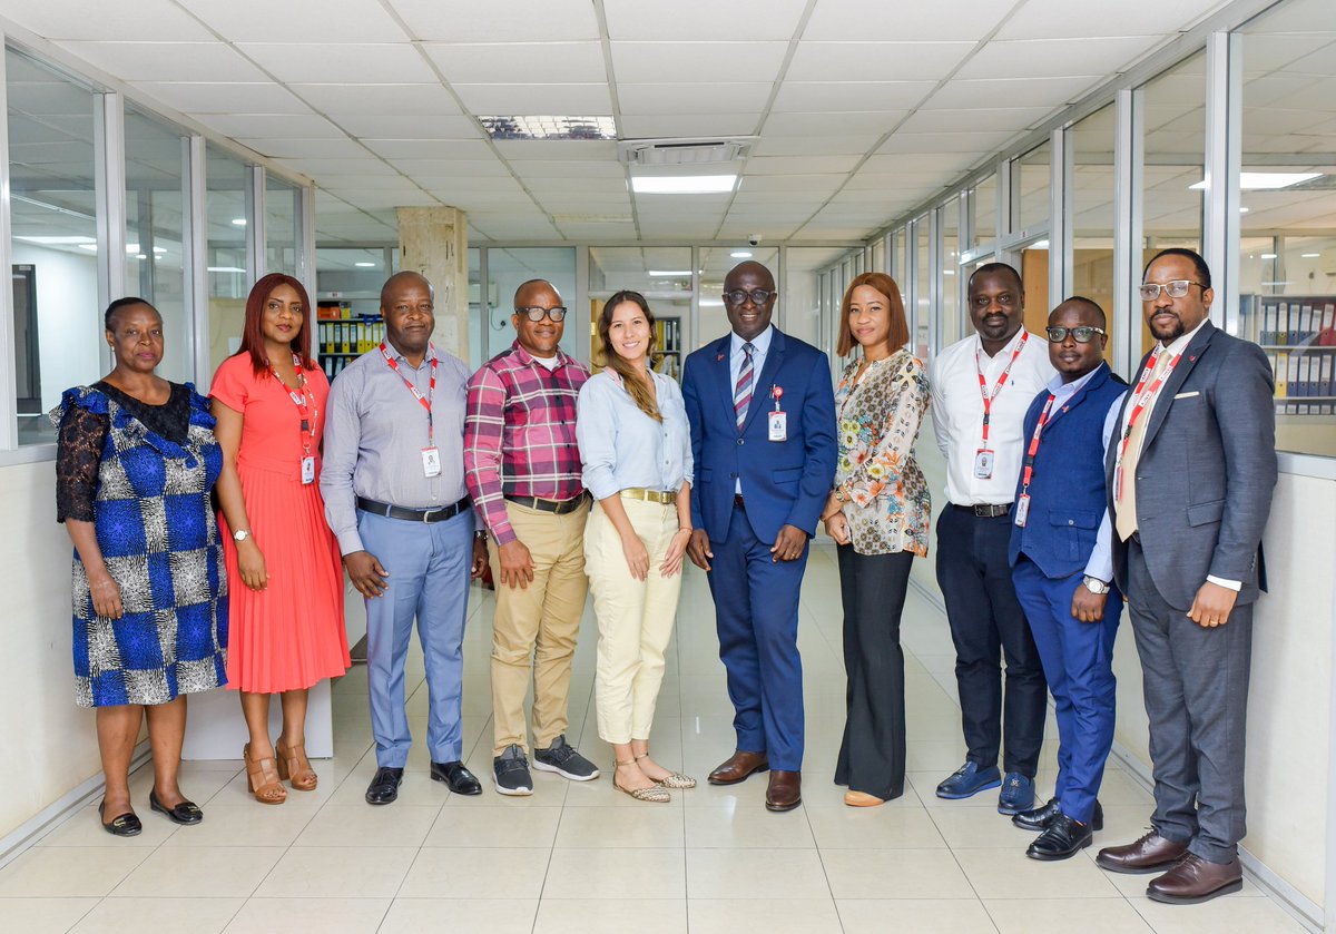
[[[424,43],[452,84],[580,84],[605,82],[603,47],[588,43]]]

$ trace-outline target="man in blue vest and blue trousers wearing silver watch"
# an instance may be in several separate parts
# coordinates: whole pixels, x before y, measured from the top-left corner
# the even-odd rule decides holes
[[[1128,390],[1104,362],[1105,327],[1089,298],[1071,297],[1049,315],[1058,374],[1026,413],[1011,512],[1015,595],[1058,712],[1053,798],[1011,818],[1042,831],[1026,850],[1031,859],[1067,859],[1104,824],[1096,795],[1113,744],[1113,639],[1122,612],[1104,461]]]

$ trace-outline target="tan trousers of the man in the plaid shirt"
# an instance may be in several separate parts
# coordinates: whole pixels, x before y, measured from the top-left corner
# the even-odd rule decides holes
[[[584,573],[584,528],[588,509],[557,516],[506,502],[514,533],[533,557],[533,581],[526,589],[501,583],[496,541],[488,540],[496,615],[492,617],[492,719],[497,756],[508,746],[525,752],[528,730],[524,696],[533,671],[533,740],[537,748],[566,731],[570,659],[584,615],[589,581]]]

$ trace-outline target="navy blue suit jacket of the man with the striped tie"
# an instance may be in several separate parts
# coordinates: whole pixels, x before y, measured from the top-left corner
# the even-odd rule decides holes
[[[747,421],[739,432],[728,373],[731,339],[728,334],[696,350],[683,367],[681,396],[696,462],[691,521],[705,529],[712,541],[723,541],[733,509],[733,486],[740,477],[747,520],[758,538],[775,541],[783,525],[811,536],[835,478],[830,362],[816,347],[776,327]],[[783,389],[780,401],[788,413],[786,441],[770,441],[767,413],[775,408],[772,386]]]

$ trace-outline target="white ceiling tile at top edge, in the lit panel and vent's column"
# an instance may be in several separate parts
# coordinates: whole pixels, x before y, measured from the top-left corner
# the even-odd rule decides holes
[[[807,0],[605,0],[608,35],[620,40],[705,41],[720,36],[788,41]]]

